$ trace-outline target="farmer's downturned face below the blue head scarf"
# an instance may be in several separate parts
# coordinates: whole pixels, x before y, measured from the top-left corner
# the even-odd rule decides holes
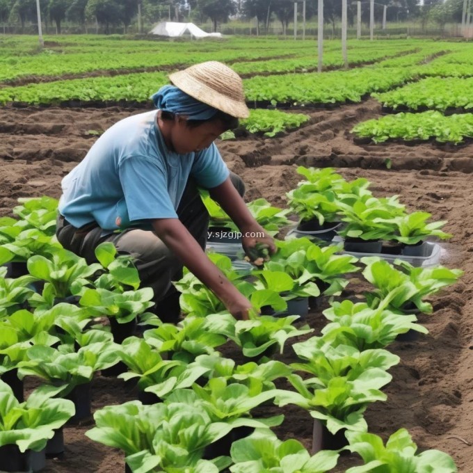
[[[184,118],[176,118],[170,131],[170,144],[179,154],[199,152],[209,147],[225,129],[218,120],[188,127]]]

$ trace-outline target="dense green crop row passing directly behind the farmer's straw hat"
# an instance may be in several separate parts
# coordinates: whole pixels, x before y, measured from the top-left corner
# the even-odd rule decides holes
[[[399,86],[410,79],[406,69],[362,69],[322,74],[284,74],[253,77],[244,81],[249,102],[336,103],[360,102],[364,95]],[[67,100],[147,102],[168,82],[162,72],[90,77],[0,89],[0,104],[26,102],[52,104]]]

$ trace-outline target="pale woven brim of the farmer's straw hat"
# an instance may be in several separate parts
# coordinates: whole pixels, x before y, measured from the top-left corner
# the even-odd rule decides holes
[[[207,84],[202,83],[195,77],[189,75],[186,70],[170,74],[169,80],[186,94],[199,102],[213,106],[235,118],[248,118],[250,111],[244,102],[234,100],[214,90]]]

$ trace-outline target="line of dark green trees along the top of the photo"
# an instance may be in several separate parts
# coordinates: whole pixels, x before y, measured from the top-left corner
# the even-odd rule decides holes
[[[122,26],[124,33],[134,22],[138,30],[143,23],[154,24],[171,21],[192,21],[202,24],[211,21],[214,31],[218,24],[229,19],[255,19],[257,28],[268,30],[272,21],[278,21],[285,32],[294,21],[294,0],[39,0],[42,21],[53,24],[61,33],[61,23],[67,20],[76,24],[79,31],[87,32],[87,25],[102,26],[109,33],[111,26]],[[470,8],[472,1],[467,0]],[[387,22],[420,21],[424,26],[428,19],[441,27],[447,22],[461,22],[464,0],[375,0],[375,21],[381,22],[383,14]],[[317,15],[317,0],[305,1],[305,17]],[[386,8],[384,8],[386,6]],[[302,1],[298,1],[302,10]],[[385,10],[385,12],[383,12]],[[348,24],[356,18],[357,2],[348,1]],[[335,25],[342,17],[342,0],[324,0],[324,21]],[[36,0],[0,0],[0,23],[3,26],[19,26],[24,31],[26,23],[37,22]],[[362,0],[362,22],[369,23],[369,0]]]

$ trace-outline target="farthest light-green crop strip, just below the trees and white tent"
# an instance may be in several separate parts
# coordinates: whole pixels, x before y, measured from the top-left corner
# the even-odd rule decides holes
[[[56,38],[55,38],[56,39]],[[143,44],[144,43],[144,44]],[[35,54],[33,56],[13,56],[11,49],[1,54],[0,81],[11,81],[24,77],[58,77],[65,74],[84,74],[97,70],[121,71],[138,68],[179,68],[183,65],[191,65],[210,59],[242,64],[235,66],[236,72],[242,74],[262,72],[293,72],[294,69],[313,68],[317,66],[316,50],[311,42],[300,42],[294,44],[289,41],[267,42],[264,40],[249,41],[243,38],[232,38],[218,42],[156,42],[156,41],[114,41],[102,42],[99,47],[97,42],[85,51],[70,51],[70,46],[61,47],[60,52],[55,49]],[[229,44],[230,43],[230,44]],[[405,54],[415,49],[406,42],[395,42],[394,44],[383,44],[380,47],[369,44],[352,44],[349,51],[350,61],[353,64],[360,62],[377,61],[385,56],[396,56]],[[7,43],[8,44],[8,43]],[[419,42],[419,47],[424,49],[428,43]],[[255,47],[259,45],[259,47]],[[338,47],[337,47],[338,45]],[[118,46],[120,47],[118,49]],[[324,47],[324,67],[342,67],[341,47],[337,42],[329,42]],[[431,45],[428,46],[428,50]],[[435,51],[441,47],[437,45]],[[291,51],[288,54],[288,51]],[[271,61],[266,64],[267,59],[285,57],[286,61]],[[191,58],[191,62],[189,62]],[[248,62],[254,64],[246,64]]]

